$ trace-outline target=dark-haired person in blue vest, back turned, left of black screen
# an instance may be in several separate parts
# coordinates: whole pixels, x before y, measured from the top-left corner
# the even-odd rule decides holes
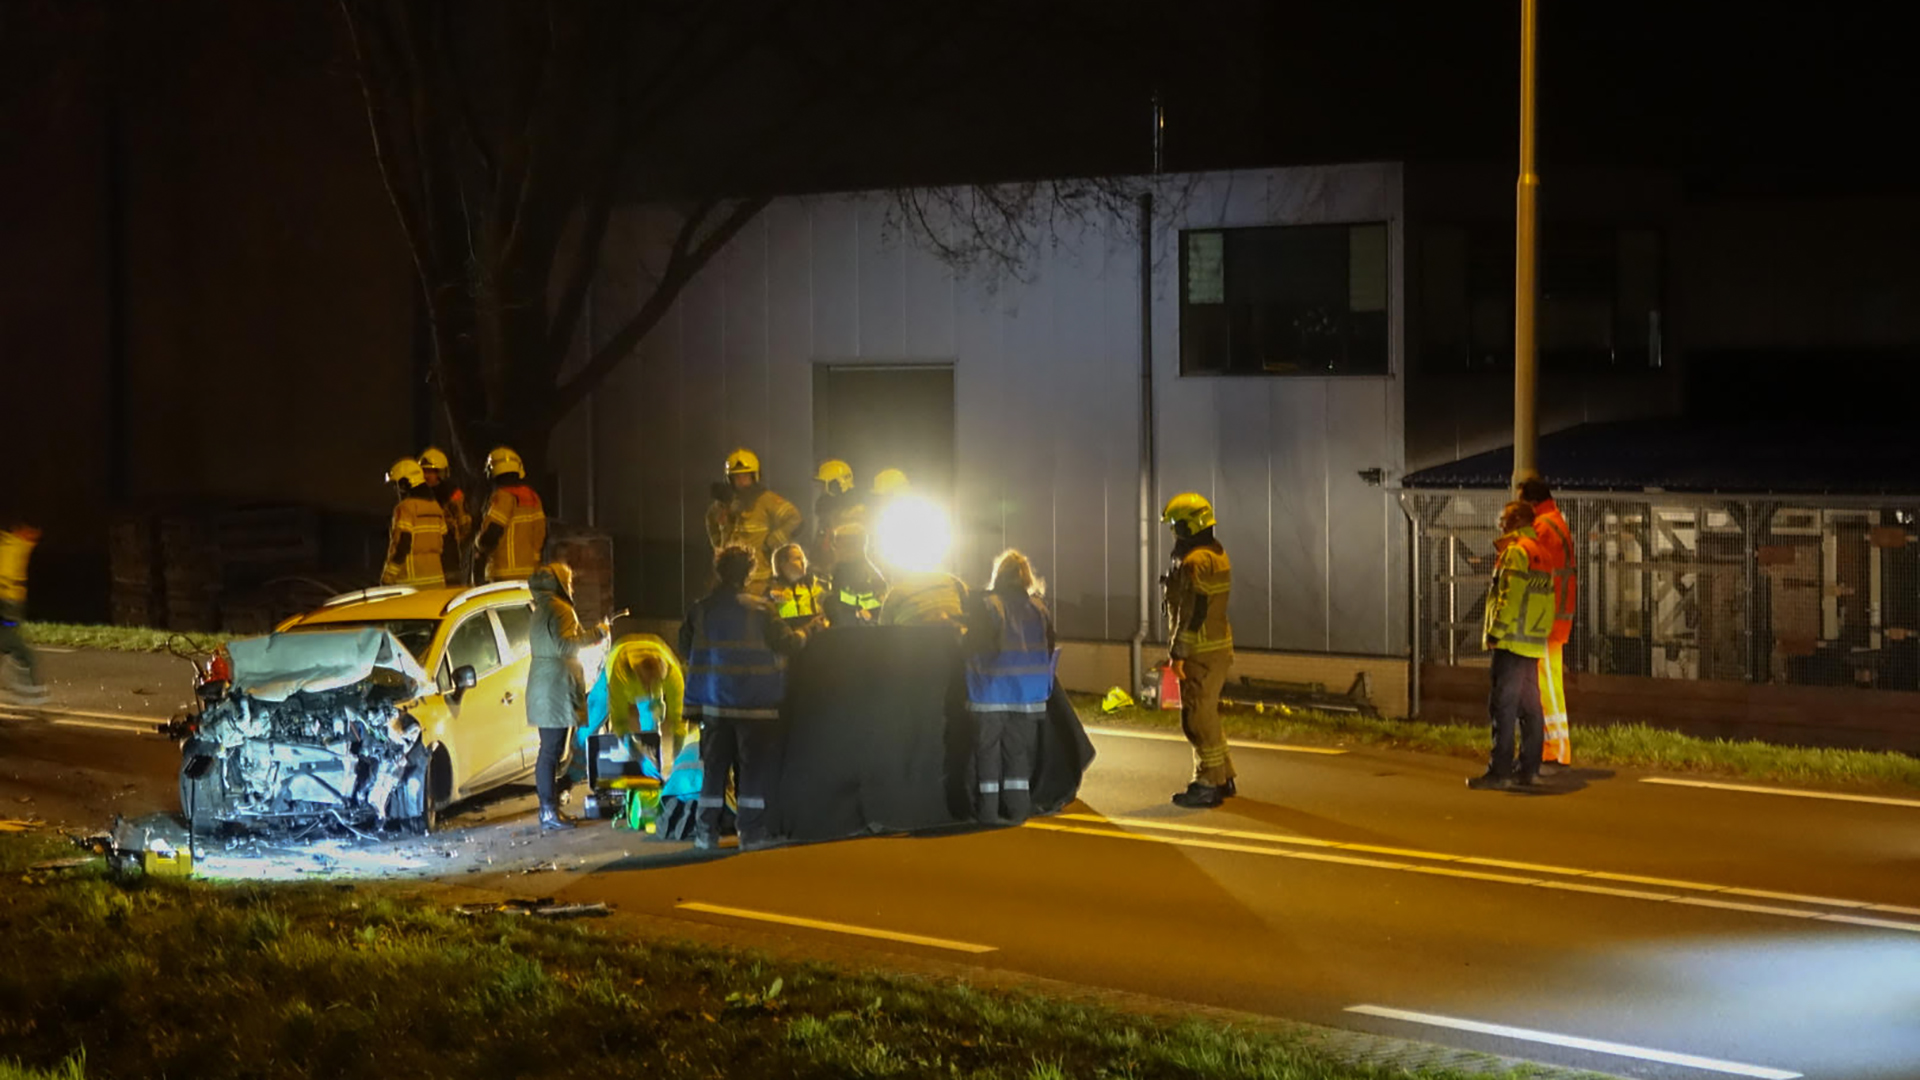
[[[780,703],[787,657],[808,628],[787,626],[764,596],[747,592],[753,552],[728,544],[714,553],[714,590],[680,625],[687,657],[687,715],[701,724],[701,813],[693,846],[720,844],[726,786],[733,776],[741,847],[768,844],[766,796],[780,780],[785,730]]]

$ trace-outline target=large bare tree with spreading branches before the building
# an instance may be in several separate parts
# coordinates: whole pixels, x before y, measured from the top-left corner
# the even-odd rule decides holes
[[[1123,181],[991,175],[908,194],[912,183],[954,181],[947,173],[964,156],[887,160],[889,123],[924,123],[920,110],[941,102],[1018,98],[1044,71],[1087,77],[1083,94],[1119,81],[1129,100],[1117,110],[1144,148],[1140,27],[1091,0],[338,4],[419,273],[432,379],[468,469],[493,442],[540,459],[553,427],[774,194],[885,177],[908,231],[954,261],[1002,271],[1018,271],[1062,213],[1133,198]],[[868,165],[833,165],[843,160]],[[1142,171],[1146,156],[1123,167]],[[674,208],[678,231],[651,294],[568,369],[609,221],[634,202]],[[939,223],[929,208],[945,211]]]

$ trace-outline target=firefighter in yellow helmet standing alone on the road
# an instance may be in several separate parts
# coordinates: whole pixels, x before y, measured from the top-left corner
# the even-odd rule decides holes
[[[1160,578],[1167,611],[1167,650],[1181,684],[1181,730],[1194,748],[1194,776],[1173,805],[1210,809],[1236,794],[1227,732],[1219,724],[1219,692],[1233,667],[1233,626],[1227,596],[1233,565],[1213,536],[1213,505],[1187,492],[1167,500],[1162,521],[1173,527],[1173,567]]]

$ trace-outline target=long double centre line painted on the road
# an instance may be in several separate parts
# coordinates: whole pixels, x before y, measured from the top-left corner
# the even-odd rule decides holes
[[[1640,899],[1649,903],[1678,903],[1682,907],[1745,911],[1751,915],[1776,915],[1782,919],[1807,919],[1812,922],[1845,922],[1849,926],[1872,926],[1876,930],[1903,930],[1908,934],[1920,934],[1920,922],[1899,922],[1893,919],[1878,919],[1878,915],[1920,915],[1920,909],[1899,907],[1893,903],[1872,903],[1866,899],[1839,899],[1839,897],[1799,896],[1799,894],[1768,892],[1768,890],[1749,890],[1740,886],[1720,886],[1709,882],[1644,878],[1638,874],[1615,874],[1609,871],[1586,871],[1578,867],[1546,867],[1536,863],[1515,863],[1507,859],[1478,859],[1473,855],[1452,855],[1446,851],[1380,847],[1375,844],[1342,844],[1336,840],[1319,840],[1313,836],[1281,836],[1275,832],[1252,832],[1244,828],[1208,828],[1196,824],[1177,824],[1177,822],[1164,822],[1164,821],[1137,819],[1137,817],[1100,817],[1089,813],[1064,813],[1058,815],[1058,819],[1085,821],[1116,828],[1085,828],[1079,824],[1054,824],[1050,821],[1029,821],[1025,828],[1037,828],[1043,832],[1077,832],[1081,836],[1104,836],[1108,840],[1142,840],[1148,844],[1171,844],[1177,847],[1235,851],[1242,855],[1302,859],[1309,863],[1334,863],[1342,867],[1365,867],[1375,871],[1404,871],[1413,874],[1467,878],[1467,880],[1505,884],[1505,886],[1546,888],[1555,892],[1584,892],[1594,896]],[[1123,828],[1150,828],[1160,832],[1173,832],[1175,836],[1154,836],[1148,832],[1121,832]],[[1298,847],[1308,847],[1308,849],[1302,851]],[[1394,855],[1394,859],[1379,859],[1371,855]],[[1405,863],[1400,859],[1419,859],[1419,863]],[[1442,863],[1442,865],[1434,867],[1425,863]],[[1465,867],[1475,867],[1475,869],[1465,869]],[[1480,867],[1490,867],[1490,869],[1480,869]],[[1494,869],[1505,869],[1517,872],[1496,872]],[[1576,880],[1555,880],[1555,878],[1576,878]],[[1620,888],[1622,884],[1655,886],[1676,892]],[[1688,894],[1699,894],[1699,896],[1688,896]],[[1778,903],[1751,903],[1753,899],[1776,899],[1786,903],[1799,903],[1805,907],[1780,907]],[[1841,911],[1809,911],[1807,907],[1837,907]]]

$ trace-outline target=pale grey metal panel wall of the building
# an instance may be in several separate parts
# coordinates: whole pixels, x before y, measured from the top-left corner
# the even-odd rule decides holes
[[[1187,194],[1154,234],[1158,500],[1179,490],[1215,500],[1242,648],[1402,653],[1405,525],[1388,492],[1359,479],[1402,469],[1400,379],[1181,379],[1177,321],[1179,229],[1390,221],[1400,371],[1400,167],[1217,173],[1173,186]],[[1066,636],[1125,640],[1139,598],[1131,223],[1060,236],[1023,281],[983,281],[889,229],[887,208],[883,196],[776,202],[599,392],[595,505],[616,534],[622,600],[674,615],[695,598],[707,484],[733,446],[756,450],[768,482],[810,509],[814,363],[929,361],[954,365],[954,571],[981,580],[1000,548],[1018,546],[1046,577]],[[643,211],[620,223],[616,269],[595,296],[599,334],[645,296],[659,238]],[[588,473],[584,421],[553,448],[574,492]],[[1154,536],[1158,575],[1164,528]]]

